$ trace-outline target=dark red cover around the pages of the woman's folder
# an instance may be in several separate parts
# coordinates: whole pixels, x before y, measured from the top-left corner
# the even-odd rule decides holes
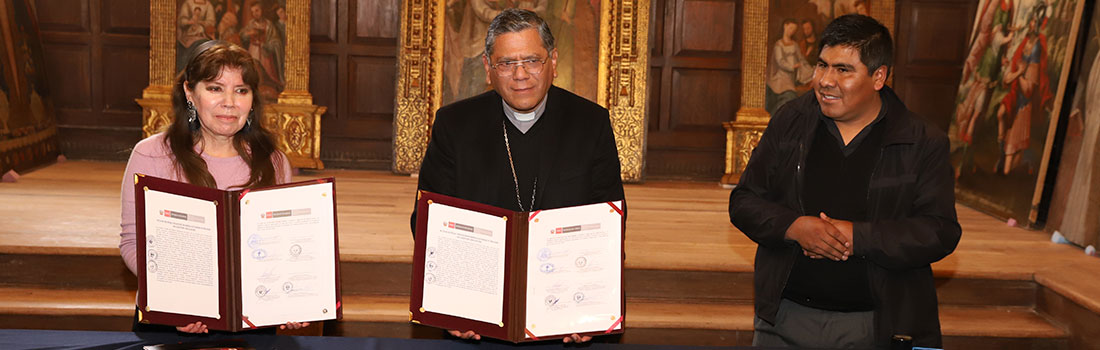
[[[138,318],[140,322],[143,324],[157,324],[157,325],[169,325],[169,326],[186,326],[191,322],[201,321],[209,329],[213,330],[224,330],[224,331],[240,331],[251,328],[263,328],[263,327],[274,327],[277,325],[267,325],[262,327],[252,326],[246,315],[242,315],[242,297],[251,293],[258,293],[258,291],[242,291],[242,280],[241,280],[241,259],[242,259],[242,247],[241,247],[241,198],[245,194],[253,192],[265,192],[280,188],[290,188],[297,186],[315,185],[315,184],[331,184],[332,195],[329,196],[332,201],[332,240],[336,243],[332,249],[332,255],[336,258],[331,263],[334,266],[334,281],[336,281],[336,307],[334,309],[324,309],[324,313],[329,316],[310,319],[310,320],[324,320],[324,319],[340,319],[343,316],[343,308],[341,307],[341,295],[340,295],[340,249],[339,249],[339,236],[337,234],[337,218],[336,218],[336,179],[334,178],[319,178],[314,181],[305,181],[298,183],[282,184],[276,186],[254,188],[254,189],[243,189],[243,190],[221,190],[217,188],[209,188],[202,186],[196,186],[191,184],[175,182],[170,179],[158,178],[154,176],[147,176],[144,174],[134,175],[134,201],[136,207],[136,225],[138,225]],[[212,218],[217,222],[217,247],[213,249],[212,254],[217,255],[217,284],[219,286],[218,292],[218,315],[220,317],[205,317],[188,315],[185,313],[168,313],[160,311],[156,309],[151,309],[148,305],[148,281],[146,275],[150,269],[156,269],[153,264],[150,264],[150,232],[147,232],[146,225],[146,192],[155,190],[165,194],[172,194],[176,196],[189,197],[200,200],[206,200],[212,203],[217,208],[216,218]],[[170,210],[161,210],[156,208],[158,215],[163,215],[167,218],[186,220],[187,214],[172,212]],[[204,221],[207,219],[202,219]],[[323,234],[329,234],[324,232]],[[154,254],[156,254],[154,252]],[[245,254],[244,258],[249,255]],[[155,258],[155,256],[154,256]],[[153,263],[156,261],[153,259]],[[154,271],[155,272],[155,271]],[[309,321],[309,320],[302,320]]]

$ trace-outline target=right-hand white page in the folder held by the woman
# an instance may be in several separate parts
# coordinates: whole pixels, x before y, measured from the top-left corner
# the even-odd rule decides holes
[[[241,198],[241,314],[252,325],[336,318],[332,190],[321,183]]]

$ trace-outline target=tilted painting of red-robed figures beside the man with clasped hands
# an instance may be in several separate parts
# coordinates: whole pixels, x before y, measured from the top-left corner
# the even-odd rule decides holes
[[[1036,221],[1084,2],[978,4],[948,130],[960,203]]]

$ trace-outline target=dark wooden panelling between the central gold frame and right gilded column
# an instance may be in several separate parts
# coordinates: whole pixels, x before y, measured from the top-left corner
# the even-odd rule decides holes
[[[651,3],[646,178],[722,177],[722,122],[733,120],[740,105],[743,3]]]

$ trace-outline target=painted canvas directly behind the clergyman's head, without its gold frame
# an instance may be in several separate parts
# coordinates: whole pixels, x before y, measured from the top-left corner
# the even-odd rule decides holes
[[[442,103],[490,89],[482,63],[485,33],[507,8],[531,10],[547,21],[558,50],[553,84],[595,101],[600,0],[459,0],[447,1]]]

